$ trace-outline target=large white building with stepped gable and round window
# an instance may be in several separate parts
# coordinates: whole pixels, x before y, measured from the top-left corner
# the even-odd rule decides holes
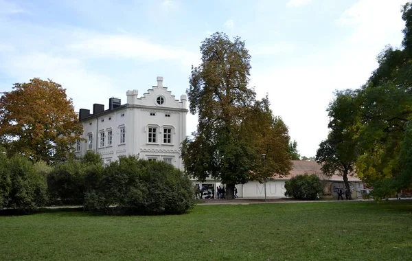
[[[90,110],[80,109],[83,125],[76,155],[93,150],[102,155],[104,163],[120,156],[139,155],[140,159],[165,161],[183,170],[180,145],[186,137],[186,95],[176,100],[166,87],[163,77],[157,77],[157,86],[138,98],[137,90],[127,91],[127,103],[110,98],[108,109],[93,104]]]

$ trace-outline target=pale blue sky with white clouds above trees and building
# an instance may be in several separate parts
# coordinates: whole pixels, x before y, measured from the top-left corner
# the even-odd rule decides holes
[[[328,135],[336,89],[358,88],[385,47],[402,41],[406,0],[0,0],[0,91],[50,78],[76,106],[126,102],[156,77],[176,98],[213,32],[246,41],[251,87],[268,93],[301,155]],[[187,116],[187,133],[196,116]]]

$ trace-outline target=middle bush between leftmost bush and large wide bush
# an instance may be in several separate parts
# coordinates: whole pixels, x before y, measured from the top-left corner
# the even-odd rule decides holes
[[[80,159],[56,164],[47,175],[50,203],[82,205],[85,193],[95,188],[103,169],[102,158],[91,151]]]

